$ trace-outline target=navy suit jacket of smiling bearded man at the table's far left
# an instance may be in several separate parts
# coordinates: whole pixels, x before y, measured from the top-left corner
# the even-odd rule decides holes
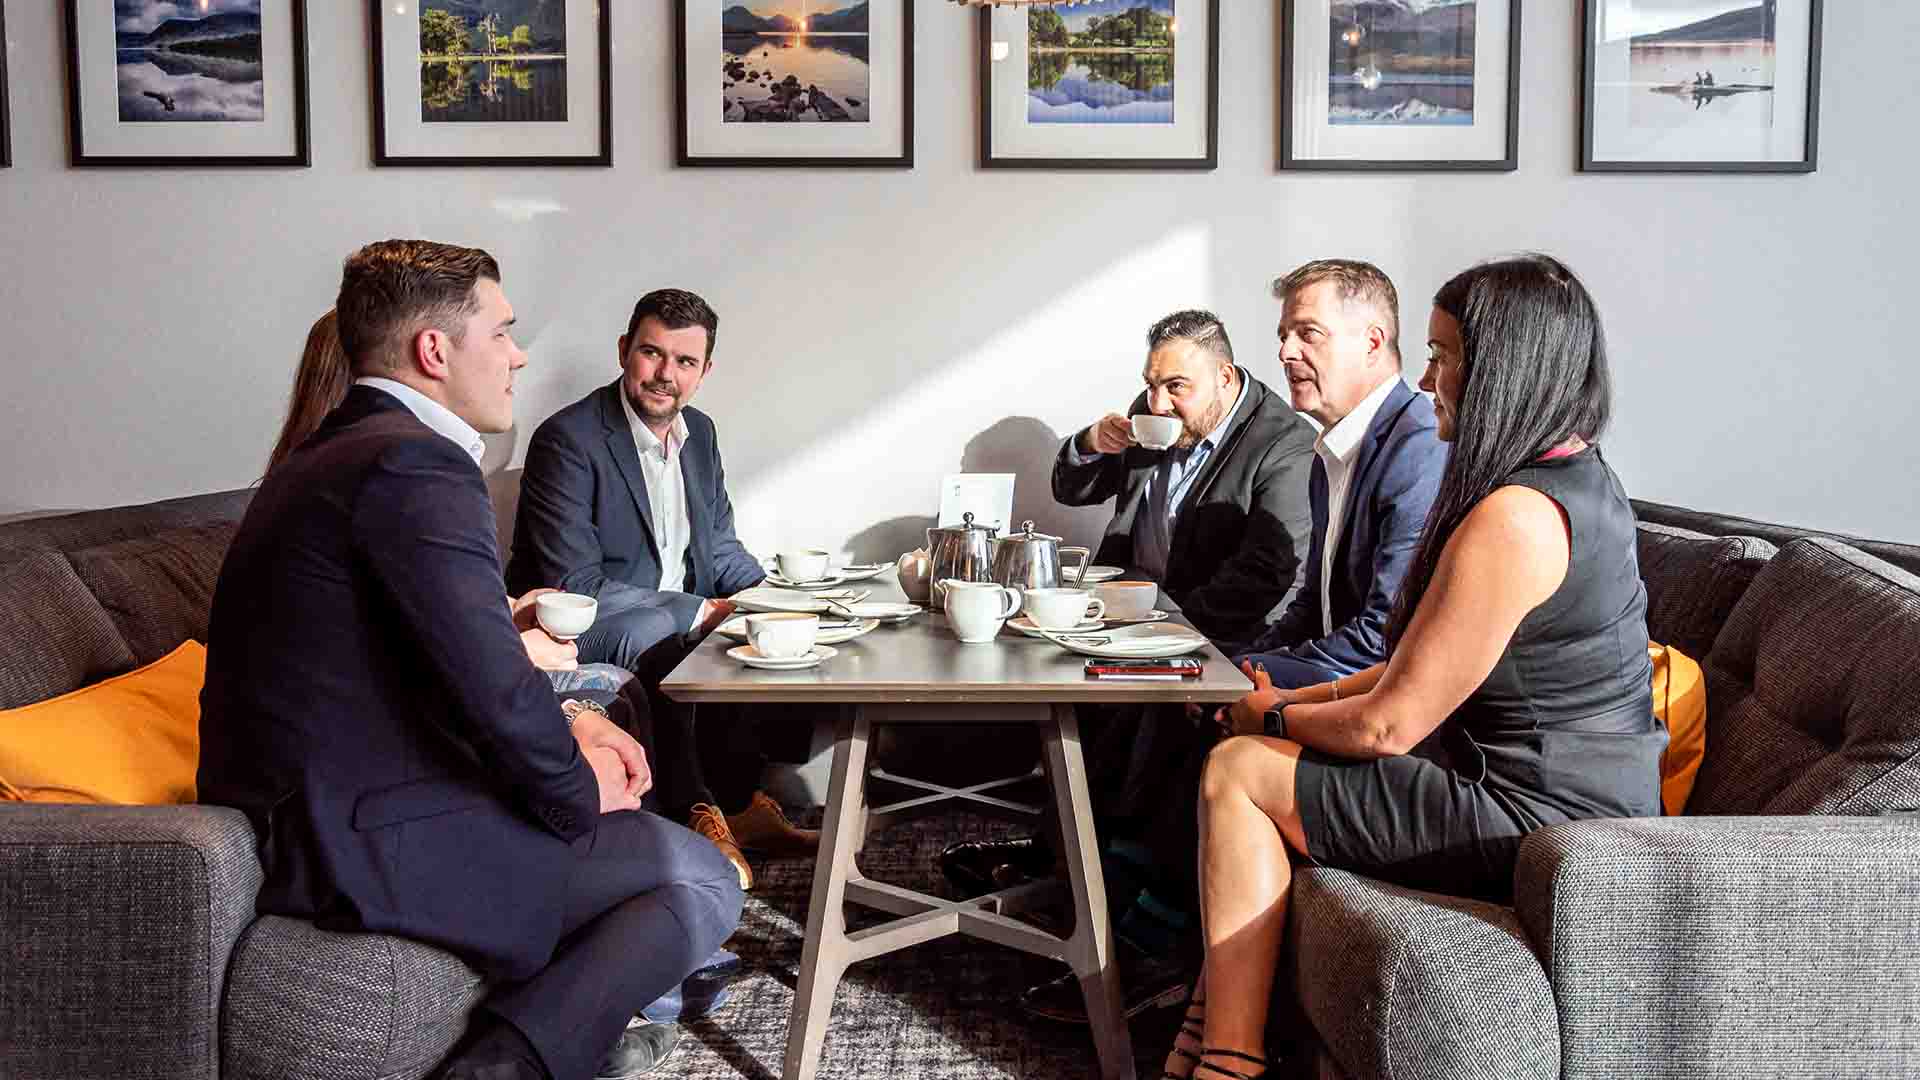
[[[685,592],[660,592],[660,546],[620,382],[547,417],[526,448],[513,523],[507,588],[553,586],[599,598],[601,615],[666,607],[685,628],[703,598],[760,584],[766,571],[733,534],[720,440],[707,413],[687,407],[680,475],[687,488]]]

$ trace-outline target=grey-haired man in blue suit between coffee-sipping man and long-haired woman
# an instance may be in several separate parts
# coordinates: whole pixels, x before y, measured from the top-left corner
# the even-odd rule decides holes
[[[1446,444],[1432,402],[1400,377],[1400,296],[1379,267],[1311,261],[1273,294],[1286,390],[1321,429],[1308,475],[1313,530],[1304,584],[1238,659],[1256,684],[1332,694],[1342,675],[1386,659],[1386,621],[1440,490]],[[1142,728],[1133,746],[1129,774],[1162,798],[1158,813],[1108,844],[1108,892],[1123,897],[1114,922],[1129,1015],[1177,1001],[1192,984],[1190,963],[1169,957],[1190,949],[1198,926],[1194,805],[1212,746],[1212,724],[1190,732],[1179,723]],[[1023,1003],[1085,1022],[1081,1001],[1066,976],[1029,990]]]

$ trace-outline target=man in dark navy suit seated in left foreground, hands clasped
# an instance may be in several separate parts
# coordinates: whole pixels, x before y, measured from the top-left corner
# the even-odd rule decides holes
[[[741,892],[637,809],[643,751],[563,711],[509,615],[478,465],[526,363],[499,267],[372,244],[336,311],[357,380],[261,484],[215,586],[202,799],[253,822],[261,913],[497,980],[442,1076],[637,1076],[672,1032],[628,1022],[733,930]]]

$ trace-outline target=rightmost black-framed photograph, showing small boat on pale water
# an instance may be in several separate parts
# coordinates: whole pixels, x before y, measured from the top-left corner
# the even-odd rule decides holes
[[[1586,0],[1580,167],[1811,173],[1822,0]]]

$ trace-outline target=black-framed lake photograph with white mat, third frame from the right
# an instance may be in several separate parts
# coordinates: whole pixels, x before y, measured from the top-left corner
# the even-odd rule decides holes
[[[1219,0],[983,8],[987,169],[1212,169]]]

